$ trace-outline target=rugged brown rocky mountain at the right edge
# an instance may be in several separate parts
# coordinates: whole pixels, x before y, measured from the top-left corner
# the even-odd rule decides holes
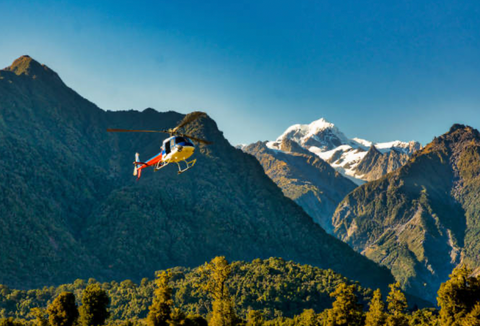
[[[333,217],[335,234],[432,299],[455,266],[480,267],[479,193],[480,133],[454,125],[350,193]]]

